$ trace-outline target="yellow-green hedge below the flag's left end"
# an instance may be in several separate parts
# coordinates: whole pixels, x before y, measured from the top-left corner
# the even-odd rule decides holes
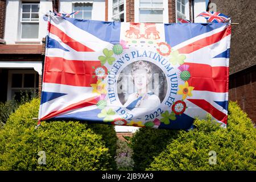
[[[113,168],[110,153],[114,149],[109,150],[105,144],[110,137],[102,138],[102,133],[96,131],[97,126],[90,125],[90,128],[86,123],[72,121],[42,122],[35,130],[36,122],[32,118],[38,116],[39,102],[35,99],[20,106],[0,130],[0,170]],[[113,127],[102,128],[105,133],[113,133]],[[38,164],[39,151],[46,152],[46,165]]]

